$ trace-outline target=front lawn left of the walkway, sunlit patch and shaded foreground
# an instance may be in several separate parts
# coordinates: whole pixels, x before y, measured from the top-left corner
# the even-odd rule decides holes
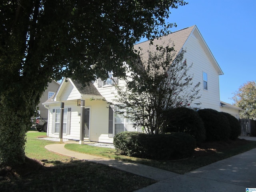
[[[18,170],[13,171],[0,180],[0,192],[132,192],[155,182],[101,164],[54,154],[44,146],[60,142],[41,140],[38,136],[46,133],[28,132],[25,152],[44,166],[37,169],[34,161],[22,164],[23,174],[19,176]]]

